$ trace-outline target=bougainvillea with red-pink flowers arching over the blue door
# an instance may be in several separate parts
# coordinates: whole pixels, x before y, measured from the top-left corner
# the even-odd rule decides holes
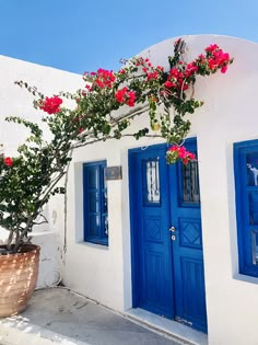
[[[13,158],[0,158],[0,226],[10,231],[3,253],[17,252],[33,227],[46,222],[44,206],[56,193],[63,193],[60,180],[67,174],[75,148],[107,139],[160,136],[171,148],[167,163],[196,159],[183,146],[190,129],[189,117],[202,100],[194,97],[198,76],[225,73],[233,59],[218,45],[206,48],[194,61],[184,60],[184,42],[174,45],[169,68],[153,66],[148,58],[134,57],[119,71],[98,69],[84,73],[85,88],[74,94],[45,96],[25,82],[16,82],[35,95],[34,106],[45,112],[42,120],[51,133],[46,141],[40,126],[20,117],[7,120],[26,126],[31,136]],[[74,107],[63,106],[63,99]],[[130,134],[137,116],[149,113],[150,126]]]

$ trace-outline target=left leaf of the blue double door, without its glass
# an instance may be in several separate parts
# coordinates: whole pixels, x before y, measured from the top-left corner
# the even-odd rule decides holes
[[[133,307],[173,318],[173,268],[165,147],[130,151]],[[146,163],[159,160],[160,202],[146,198]],[[149,179],[150,180],[150,179]]]

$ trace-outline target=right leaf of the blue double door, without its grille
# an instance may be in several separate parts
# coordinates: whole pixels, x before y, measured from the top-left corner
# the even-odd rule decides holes
[[[196,140],[186,140],[187,150],[197,153]],[[183,200],[184,166],[169,166],[171,220],[175,227],[173,241],[175,319],[207,332],[206,289],[201,237],[200,202]],[[196,179],[196,176],[195,176]]]

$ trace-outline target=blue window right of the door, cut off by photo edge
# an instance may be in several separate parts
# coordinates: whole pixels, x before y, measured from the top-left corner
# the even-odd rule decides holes
[[[247,164],[250,164],[249,168]],[[234,145],[234,173],[239,273],[258,277],[257,242],[258,181],[251,169],[258,169],[258,140]],[[254,234],[254,238],[253,238]],[[253,242],[254,241],[254,242]],[[255,257],[253,254],[256,254]]]

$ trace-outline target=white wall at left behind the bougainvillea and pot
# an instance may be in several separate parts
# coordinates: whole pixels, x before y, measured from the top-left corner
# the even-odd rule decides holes
[[[25,89],[14,85],[14,81],[23,80],[36,85],[39,91],[51,96],[59,91],[75,91],[83,85],[81,77],[49,67],[0,56],[0,143],[4,146],[5,156],[15,156],[16,148],[30,134],[21,125],[4,120],[7,116],[21,116],[32,122],[40,120],[45,115],[32,106],[33,96]],[[47,134],[46,134],[47,136]],[[55,209],[49,205],[45,209],[49,225],[35,227],[33,242],[40,244],[40,269],[37,287],[51,286],[60,279],[60,248],[57,232],[57,217],[63,217],[57,209],[63,209],[63,197]],[[55,203],[55,200],[54,200]],[[61,231],[61,229],[58,229]],[[8,232],[0,228],[0,243],[7,240]]]

